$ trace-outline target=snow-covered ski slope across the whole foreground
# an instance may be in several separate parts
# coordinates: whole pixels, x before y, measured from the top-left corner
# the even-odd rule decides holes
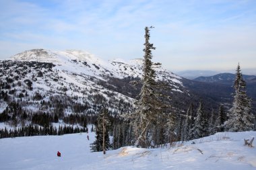
[[[256,132],[222,132],[174,147],[127,146],[106,155],[90,152],[94,135],[0,139],[0,169],[256,169],[255,141],[252,148],[243,145],[243,139],[256,137]]]

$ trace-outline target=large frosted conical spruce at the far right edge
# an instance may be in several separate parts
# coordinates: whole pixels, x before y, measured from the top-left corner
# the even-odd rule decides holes
[[[251,113],[251,98],[246,93],[246,83],[243,80],[240,65],[236,68],[234,81],[234,100],[225,122],[226,130],[241,132],[253,129],[253,114]]]

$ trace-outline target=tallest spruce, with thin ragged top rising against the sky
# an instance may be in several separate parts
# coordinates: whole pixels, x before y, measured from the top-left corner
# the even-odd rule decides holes
[[[152,26],[150,28],[153,28]],[[135,146],[143,148],[158,144],[158,139],[162,136],[163,108],[166,105],[160,100],[160,93],[157,90],[155,81],[156,72],[153,69],[152,50],[156,48],[149,42],[150,28],[145,28],[145,48],[143,51],[143,77],[139,99],[135,102],[135,112],[129,114],[128,118],[133,125],[133,135],[135,136]],[[158,128],[158,130],[156,130]]]

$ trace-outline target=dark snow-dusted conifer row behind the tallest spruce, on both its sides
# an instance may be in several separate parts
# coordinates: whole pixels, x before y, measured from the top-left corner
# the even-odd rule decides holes
[[[133,127],[122,117],[110,117],[111,128],[109,133],[113,136],[111,147],[114,149],[122,146],[134,144]],[[197,108],[191,103],[186,114],[175,114],[172,116],[172,122],[162,120],[165,126],[158,127],[154,133],[157,133],[157,143],[152,143],[150,147],[159,147],[166,144],[172,144],[177,141],[188,141],[195,138],[201,138],[216,132],[224,132],[224,122],[227,120],[227,110],[220,105],[218,111],[208,113],[203,107],[203,101],[200,101]],[[172,124],[172,128],[168,127]]]

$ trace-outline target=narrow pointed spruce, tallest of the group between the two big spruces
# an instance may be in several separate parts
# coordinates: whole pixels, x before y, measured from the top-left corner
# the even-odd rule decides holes
[[[192,136],[193,138],[207,136],[207,122],[205,120],[202,101],[199,102],[199,106],[197,108],[197,118],[195,119],[195,126],[193,128]]]

